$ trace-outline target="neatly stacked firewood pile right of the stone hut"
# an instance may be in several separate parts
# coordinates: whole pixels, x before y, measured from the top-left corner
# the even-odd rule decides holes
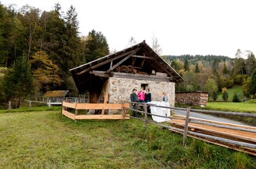
[[[206,106],[208,103],[207,92],[178,92],[175,93],[175,103]]]

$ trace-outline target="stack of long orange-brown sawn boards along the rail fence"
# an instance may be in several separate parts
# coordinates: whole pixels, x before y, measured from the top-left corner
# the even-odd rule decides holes
[[[184,129],[185,117],[171,120],[171,127]],[[178,130],[172,131],[183,134]],[[187,136],[256,156],[256,127],[190,117]]]

